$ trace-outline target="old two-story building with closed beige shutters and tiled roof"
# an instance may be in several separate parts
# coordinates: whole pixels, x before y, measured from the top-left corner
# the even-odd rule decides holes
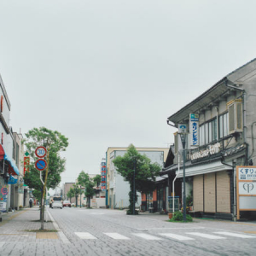
[[[228,74],[168,117],[169,125],[185,124],[189,128],[186,195],[193,195],[194,212],[236,219],[236,166],[256,165],[255,109],[256,59]],[[168,174],[169,195],[177,175],[178,154],[183,148],[178,133],[174,136],[174,164],[161,172],[161,175]],[[182,181],[183,172],[179,172],[176,195],[182,195]]]

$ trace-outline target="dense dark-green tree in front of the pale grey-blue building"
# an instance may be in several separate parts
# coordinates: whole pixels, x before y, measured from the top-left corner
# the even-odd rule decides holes
[[[124,156],[117,156],[113,160],[116,171],[125,181],[130,183],[129,209],[127,214],[137,214],[135,204],[137,202],[137,191],[148,193],[154,189],[155,177],[160,174],[160,165],[151,164],[146,155],[139,154],[131,144]]]

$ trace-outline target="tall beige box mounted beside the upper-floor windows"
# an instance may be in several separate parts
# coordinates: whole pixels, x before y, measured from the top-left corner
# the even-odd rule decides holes
[[[229,109],[229,134],[242,132],[242,101],[233,100],[227,105]]]

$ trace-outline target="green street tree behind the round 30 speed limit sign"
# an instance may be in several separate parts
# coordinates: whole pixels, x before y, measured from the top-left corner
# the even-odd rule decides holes
[[[35,168],[35,161],[37,160],[35,149],[39,146],[44,146],[47,148],[48,178],[45,185],[47,189],[55,189],[55,187],[61,182],[61,172],[64,172],[65,170],[66,160],[61,158],[60,153],[61,151],[66,150],[68,146],[68,139],[59,131],[51,131],[45,127],[33,128],[32,130],[28,131],[25,136],[25,145],[28,153],[31,156],[31,160],[29,172],[26,172],[24,176],[24,182],[31,189],[34,189],[34,195],[37,196],[38,200],[41,200],[40,219],[42,221],[42,219],[44,219],[44,185],[40,180],[39,171]],[[41,172],[42,178],[45,181],[46,172]]]

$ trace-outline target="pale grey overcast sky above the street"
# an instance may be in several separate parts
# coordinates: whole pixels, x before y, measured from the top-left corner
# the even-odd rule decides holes
[[[0,0],[10,125],[68,137],[62,182],[108,147],[169,147],[166,119],[256,57],[256,1]]]

